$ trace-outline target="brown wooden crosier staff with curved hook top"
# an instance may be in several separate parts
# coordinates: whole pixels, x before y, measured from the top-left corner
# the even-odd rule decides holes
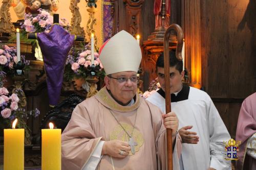
[[[176,57],[182,60],[182,46],[183,46],[183,31],[179,25],[173,23],[168,27],[164,33],[163,47],[164,47],[164,82],[165,82],[165,110],[166,114],[171,111],[170,108],[170,89],[169,89],[169,38],[170,32],[175,30],[177,32],[177,48]],[[172,129],[167,129],[167,169],[173,170],[173,142],[172,142]]]

